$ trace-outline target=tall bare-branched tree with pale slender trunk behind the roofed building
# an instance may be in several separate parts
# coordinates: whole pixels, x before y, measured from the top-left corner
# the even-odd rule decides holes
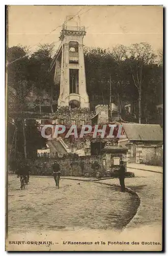
[[[138,91],[138,121],[142,121],[142,84],[146,77],[145,67],[152,65],[156,55],[153,53],[151,45],[147,42],[132,44],[130,47],[122,46],[122,52],[126,58],[127,65],[130,68],[130,74],[134,86]]]

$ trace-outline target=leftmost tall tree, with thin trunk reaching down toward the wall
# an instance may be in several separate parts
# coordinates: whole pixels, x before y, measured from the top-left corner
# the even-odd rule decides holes
[[[29,73],[27,72],[29,67],[27,53],[27,49],[22,46],[11,47],[7,50],[9,108],[12,108],[11,110],[17,112],[18,115],[21,114],[25,158],[27,156],[26,137],[22,112],[26,109],[26,96],[32,89],[32,82],[29,80]]]

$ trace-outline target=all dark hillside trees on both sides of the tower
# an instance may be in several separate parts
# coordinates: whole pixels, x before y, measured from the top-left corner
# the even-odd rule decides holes
[[[24,111],[38,110],[40,113],[42,106],[47,104],[50,112],[55,112],[58,91],[53,83],[53,73],[49,71],[52,52],[53,44],[39,45],[32,55],[23,46],[7,50],[8,111],[15,112],[16,118],[22,117],[20,113]],[[162,114],[157,113],[156,105],[161,104],[163,98],[162,50],[159,49],[156,56],[151,46],[143,42],[129,47],[118,45],[111,50],[85,47],[84,55],[91,111],[97,104],[109,104],[111,98],[111,102],[119,107],[118,115],[125,121],[161,124]],[[125,109],[129,103],[130,113]],[[60,111],[68,114],[69,109]],[[31,132],[35,132],[36,125],[31,125]],[[10,127],[9,146],[13,129],[14,126]],[[22,124],[19,124],[18,154],[23,152],[22,129]],[[36,133],[31,137],[26,132],[26,137],[29,139],[27,152],[31,155],[33,141],[38,146],[41,141]]]

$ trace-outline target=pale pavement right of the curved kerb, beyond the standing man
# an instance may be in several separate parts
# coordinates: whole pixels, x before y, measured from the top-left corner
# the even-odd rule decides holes
[[[156,170],[155,166],[154,169]],[[133,222],[128,226],[151,226],[162,224],[162,188],[163,175],[160,173],[148,172],[141,169],[127,168],[128,172],[135,174],[134,178],[126,178],[125,185],[134,190],[141,204]],[[119,184],[117,179],[101,181],[106,184]]]

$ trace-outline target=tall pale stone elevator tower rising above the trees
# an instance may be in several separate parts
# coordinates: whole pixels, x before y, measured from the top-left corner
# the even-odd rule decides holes
[[[80,20],[67,16],[60,33],[61,45],[55,55],[54,81],[58,83],[59,79],[60,83],[58,106],[89,108],[83,55],[85,35]]]

